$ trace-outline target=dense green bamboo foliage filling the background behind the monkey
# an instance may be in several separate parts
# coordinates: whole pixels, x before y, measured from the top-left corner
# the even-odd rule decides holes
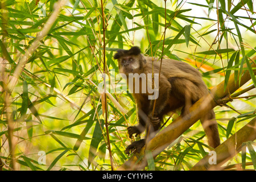
[[[102,94],[96,87],[102,82],[99,77],[104,71],[102,9],[106,26],[106,72],[115,69],[112,78],[118,73],[117,61],[113,60],[118,48],[139,46],[148,56],[163,54],[186,61],[200,70],[209,88],[222,80],[228,82],[230,73],[236,73],[239,79],[242,65],[255,56],[254,0],[200,1],[203,4],[167,1],[166,20],[164,1],[109,0],[104,1],[102,7],[97,0],[73,0],[61,7],[51,30],[26,59],[26,67],[12,90],[9,81],[16,65],[34,46],[33,42],[55,10],[55,2],[5,0],[0,4],[0,158],[3,170],[110,169]],[[249,71],[252,71],[250,67]],[[256,85],[255,76],[243,88],[252,84]],[[6,97],[6,90],[9,97]],[[255,89],[244,96],[253,94],[256,94]],[[127,111],[125,117],[108,97],[110,146],[114,168],[117,168],[130,157],[124,153],[131,142],[126,128],[137,123],[137,116],[131,94],[112,93],[112,96]],[[214,108],[221,142],[256,116],[255,103],[253,96],[229,102],[234,110]],[[13,130],[10,122],[14,123]],[[14,136],[10,142],[11,134]],[[14,146],[13,152],[10,144]],[[255,169],[255,143],[245,145],[248,150],[237,154],[225,166],[240,164],[240,169],[239,166],[245,168],[245,164],[250,164],[246,169]],[[197,122],[146,169],[188,170],[210,150],[203,128]],[[46,164],[38,164],[39,151],[46,152]]]

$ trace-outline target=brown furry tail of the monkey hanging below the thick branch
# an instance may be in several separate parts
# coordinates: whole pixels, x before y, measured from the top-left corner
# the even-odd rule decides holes
[[[217,122],[215,119],[215,113],[210,110],[204,117],[200,119],[205,134],[208,137],[208,143],[210,147],[216,148],[220,145],[220,136],[218,134]]]

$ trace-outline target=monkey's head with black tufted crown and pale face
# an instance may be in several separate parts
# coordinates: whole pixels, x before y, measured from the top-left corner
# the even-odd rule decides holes
[[[131,47],[129,50],[118,49],[114,55],[118,60],[119,72],[125,73],[142,73],[146,59],[141,55],[139,47]]]

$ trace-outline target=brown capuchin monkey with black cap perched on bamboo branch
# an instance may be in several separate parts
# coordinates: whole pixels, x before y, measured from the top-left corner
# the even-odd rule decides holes
[[[148,80],[152,80],[152,75],[159,73],[158,59],[152,61],[152,57],[142,55],[139,47],[131,47],[129,50],[118,49],[114,59],[118,60],[119,73],[125,74],[129,89],[137,103],[139,125],[127,128],[130,138],[133,134],[137,137],[145,129],[146,136],[153,138],[160,129],[165,115],[180,108],[181,115],[185,115],[192,104],[209,93],[200,72],[187,63],[163,59],[160,77],[154,76],[156,81],[150,82]],[[131,77],[134,75],[139,76],[139,80]],[[144,82],[156,88],[158,94],[153,93],[149,89],[150,86],[145,86]],[[155,97],[152,98],[152,95]],[[209,146],[216,148],[220,144],[220,137],[214,111],[205,113],[200,121],[207,134]],[[131,143],[125,150],[126,154],[133,150],[140,152],[145,143],[146,139]]]

